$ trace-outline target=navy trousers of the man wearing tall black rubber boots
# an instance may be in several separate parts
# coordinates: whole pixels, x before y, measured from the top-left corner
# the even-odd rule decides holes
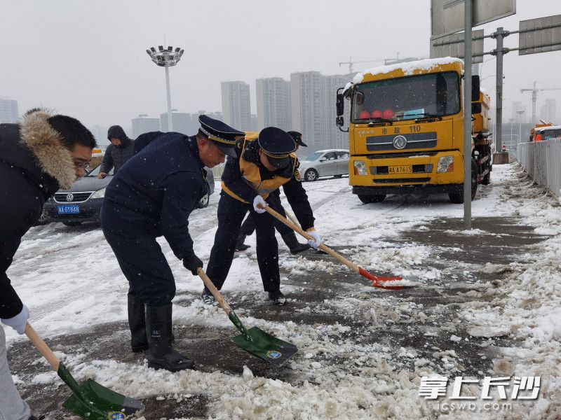
[[[128,280],[129,293],[148,306],[170,303],[175,297],[175,279],[149,224],[127,220],[122,208],[105,200],[101,225]]]

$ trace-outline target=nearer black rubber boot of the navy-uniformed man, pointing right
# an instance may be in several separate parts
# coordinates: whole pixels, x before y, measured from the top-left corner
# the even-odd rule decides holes
[[[148,366],[178,372],[194,367],[193,360],[177,353],[171,346],[171,303],[159,307],[146,307],[146,332],[148,336]]]

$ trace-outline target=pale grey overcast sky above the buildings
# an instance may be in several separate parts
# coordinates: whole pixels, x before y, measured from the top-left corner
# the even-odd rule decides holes
[[[489,0],[492,1],[492,0]],[[220,82],[283,77],[295,71],[344,74],[339,62],[428,57],[430,0],[0,0],[0,97],[17,99],[20,113],[43,105],[93,125],[130,127],[139,113],[167,109],[164,70],[145,52],[151,45],[181,46],[170,69],[172,106],[189,113],[222,111]],[[561,14],[560,0],[518,0],[517,14],[483,25],[518,29],[518,21]],[[506,38],[518,46],[518,34]],[[494,41],[485,41],[485,50]],[[491,56],[486,56],[489,59]],[[378,66],[368,62],[355,70]],[[495,73],[495,59],[481,76]],[[505,120],[511,102],[531,111],[521,87],[561,87],[561,51],[504,58]],[[482,80],[494,96],[494,77]],[[547,98],[539,95],[538,112]],[[561,123],[557,121],[557,123]]]

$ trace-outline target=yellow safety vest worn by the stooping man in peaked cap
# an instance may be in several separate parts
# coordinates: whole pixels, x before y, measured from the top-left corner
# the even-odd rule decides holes
[[[288,183],[288,181],[292,179],[292,176],[290,176],[290,178],[286,178],[284,176],[275,174],[273,175],[272,179],[265,179],[264,181],[261,180],[261,174],[259,174],[259,167],[255,165],[255,163],[248,162],[243,158],[243,152],[245,151],[245,146],[250,144],[250,141],[255,141],[256,139],[257,139],[257,133],[248,132],[245,134],[245,139],[243,140],[243,148],[240,156],[240,172],[243,181],[245,181],[252,190],[254,190],[257,194],[261,195],[261,197],[263,197],[264,200],[266,200],[266,198],[269,197],[269,194],[271,194],[274,190],[278,190],[280,186],[283,186],[285,183]],[[293,166],[291,172],[291,174],[294,174],[297,159],[295,153],[291,153],[290,156],[294,158],[293,159],[294,163],[292,164]],[[224,184],[224,181],[222,181],[222,190],[224,190],[224,192],[227,193],[230,197],[234,197],[236,200],[240,200],[241,202],[250,204],[249,202],[243,200],[243,198],[239,197],[234,192],[232,192]]]

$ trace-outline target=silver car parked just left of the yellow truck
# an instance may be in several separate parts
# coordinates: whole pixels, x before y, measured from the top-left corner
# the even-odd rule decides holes
[[[317,151],[302,159],[298,169],[304,181],[317,181],[322,176],[341,178],[343,175],[349,175],[349,151]]]

